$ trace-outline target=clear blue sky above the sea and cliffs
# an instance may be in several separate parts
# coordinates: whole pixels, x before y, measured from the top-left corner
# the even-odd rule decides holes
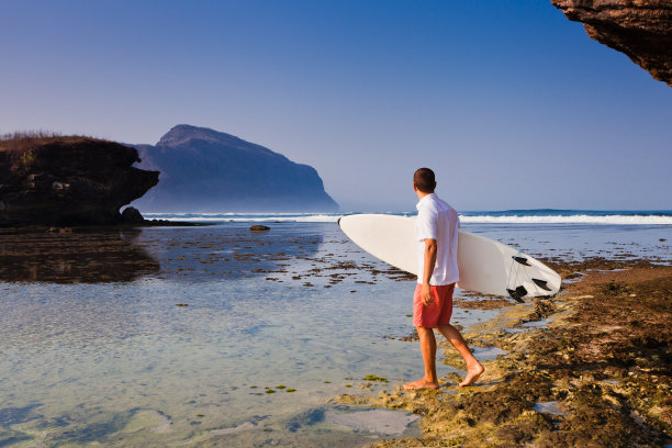
[[[212,127],[341,210],[672,209],[672,89],[550,0],[0,0],[0,133]]]

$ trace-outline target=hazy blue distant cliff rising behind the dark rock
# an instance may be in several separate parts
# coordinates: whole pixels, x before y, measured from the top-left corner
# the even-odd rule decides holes
[[[180,124],[155,145],[134,145],[159,184],[136,201],[143,212],[335,211],[314,168],[264,146]]]

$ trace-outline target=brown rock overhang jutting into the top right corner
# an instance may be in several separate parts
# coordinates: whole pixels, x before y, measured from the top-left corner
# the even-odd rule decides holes
[[[671,0],[551,0],[589,36],[672,86]]]

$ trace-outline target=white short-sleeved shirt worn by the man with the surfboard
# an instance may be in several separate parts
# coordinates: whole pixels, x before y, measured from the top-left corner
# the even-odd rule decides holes
[[[429,193],[416,205],[415,236],[417,239],[417,282],[423,282],[425,270],[425,239],[436,239],[436,265],[429,284],[438,287],[460,279],[457,265],[460,219],[455,209]]]

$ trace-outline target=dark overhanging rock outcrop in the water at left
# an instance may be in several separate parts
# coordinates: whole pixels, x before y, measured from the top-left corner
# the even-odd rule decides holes
[[[111,224],[158,182],[137,150],[88,137],[0,142],[0,225]]]

